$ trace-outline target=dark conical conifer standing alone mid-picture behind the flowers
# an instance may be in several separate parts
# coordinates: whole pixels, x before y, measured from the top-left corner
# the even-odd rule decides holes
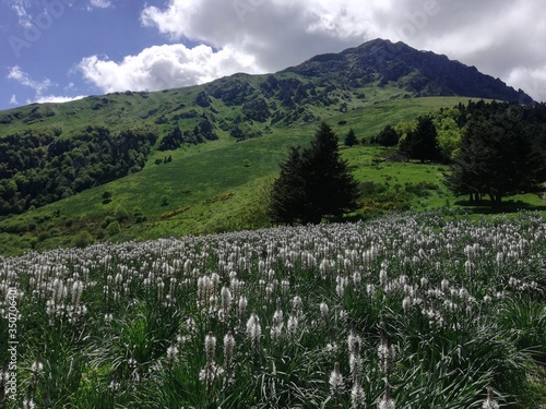
[[[276,222],[320,222],[356,208],[358,184],[339,153],[337,136],[321,123],[306,149],[292,148],[273,183],[272,219]]]

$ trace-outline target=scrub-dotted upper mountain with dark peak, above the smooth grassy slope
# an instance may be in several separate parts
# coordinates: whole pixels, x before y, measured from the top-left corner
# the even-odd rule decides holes
[[[121,130],[145,122],[159,125],[161,131],[168,125],[193,131],[198,125],[204,127],[204,136],[228,132],[236,139],[248,139],[260,135],[264,125],[312,122],[328,117],[327,111],[429,96],[533,103],[523,91],[474,67],[404,43],[375,39],[274,74],[235,74],[200,86],[155,93],[127,91],[5,110],[0,112],[0,135],[29,125],[71,131],[99,124]]]

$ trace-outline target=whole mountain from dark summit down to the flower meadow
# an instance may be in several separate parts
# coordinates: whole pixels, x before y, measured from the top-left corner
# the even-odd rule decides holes
[[[170,231],[165,220],[182,213],[183,224],[169,229],[224,230],[222,213],[206,216],[217,221],[212,228],[199,224],[213,206],[234,207],[242,196],[232,193],[275,175],[287,147],[306,143],[318,120],[336,132],[354,128],[361,140],[470,97],[532,103],[475,68],[377,39],[274,74],[1,111],[0,254],[2,243],[35,243],[15,237],[48,245],[82,229],[111,237],[120,230],[107,229],[112,220],[127,234],[128,219],[139,224],[127,238],[161,237]],[[254,193],[245,192],[254,206]]]

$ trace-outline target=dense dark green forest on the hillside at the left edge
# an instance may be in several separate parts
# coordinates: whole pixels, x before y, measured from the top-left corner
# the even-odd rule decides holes
[[[87,127],[71,139],[56,139],[49,129],[2,137],[0,215],[44,206],[142,169],[156,136],[146,127],[118,134]]]

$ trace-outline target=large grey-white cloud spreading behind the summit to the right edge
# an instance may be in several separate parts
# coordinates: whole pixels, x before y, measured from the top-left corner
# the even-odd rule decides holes
[[[381,37],[448,55],[513,86],[522,83],[512,82],[524,75],[520,67],[531,67],[539,89],[544,21],[542,0],[169,0],[141,13],[144,26],[173,40],[237,50],[265,71]]]

